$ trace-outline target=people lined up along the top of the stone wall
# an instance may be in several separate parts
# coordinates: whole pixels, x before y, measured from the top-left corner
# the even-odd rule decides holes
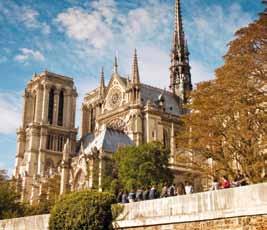
[[[245,185],[248,185],[248,179],[246,176],[242,175],[240,171],[238,171],[236,178],[232,182],[230,182],[227,176],[222,176],[220,179],[214,178],[210,190],[227,189]],[[193,193],[193,186],[188,181],[185,183],[178,183],[177,185],[168,185],[165,183],[162,186],[161,191],[159,191],[156,186],[131,190],[130,192],[127,192],[126,190],[120,191],[117,196],[117,202],[126,204],[177,195],[187,195],[191,193]]]

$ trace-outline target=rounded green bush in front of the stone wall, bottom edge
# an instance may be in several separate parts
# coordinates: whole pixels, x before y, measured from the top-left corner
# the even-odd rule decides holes
[[[112,229],[111,205],[115,201],[115,197],[106,192],[82,191],[67,194],[53,207],[49,229]]]

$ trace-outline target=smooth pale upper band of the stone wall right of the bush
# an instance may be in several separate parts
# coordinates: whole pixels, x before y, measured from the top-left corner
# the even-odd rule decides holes
[[[126,204],[114,225],[125,229],[264,214],[267,183]]]

